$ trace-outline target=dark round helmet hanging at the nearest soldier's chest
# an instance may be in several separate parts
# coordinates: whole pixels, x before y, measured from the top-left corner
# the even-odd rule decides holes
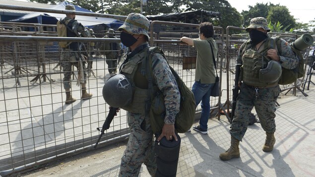
[[[103,98],[114,108],[124,108],[132,101],[132,87],[123,74],[112,75],[103,86]]]

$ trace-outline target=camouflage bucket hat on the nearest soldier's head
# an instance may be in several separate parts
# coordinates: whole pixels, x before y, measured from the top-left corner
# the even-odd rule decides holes
[[[139,13],[130,13],[126,18],[125,23],[119,27],[118,30],[125,30],[131,34],[144,34],[150,39],[148,35],[149,26],[150,22],[145,16]]]

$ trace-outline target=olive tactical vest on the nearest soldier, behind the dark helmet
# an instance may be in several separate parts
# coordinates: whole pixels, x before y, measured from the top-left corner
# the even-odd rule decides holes
[[[141,74],[141,65],[142,60],[147,58],[148,52],[148,48],[143,49],[121,66],[120,74],[125,75],[130,81],[133,92],[131,103],[122,109],[131,113],[145,114],[145,103],[148,101],[148,80],[145,75]],[[158,92],[158,90],[158,87],[154,85],[153,93]]]

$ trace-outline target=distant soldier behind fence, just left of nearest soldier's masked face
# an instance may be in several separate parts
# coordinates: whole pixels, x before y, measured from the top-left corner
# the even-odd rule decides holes
[[[104,38],[117,38],[115,36],[115,31],[113,29],[109,29],[106,32]],[[108,65],[108,71],[110,75],[116,74],[117,72],[117,60],[119,56],[119,51],[121,50],[120,43],[105,43],[104,44],[104,53],[106,56],[106,63]]]

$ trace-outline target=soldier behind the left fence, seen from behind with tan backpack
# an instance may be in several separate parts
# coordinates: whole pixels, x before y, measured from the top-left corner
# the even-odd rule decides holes
[[[67,25],[66,35],[67,37],[89,37],[89,31],[75,19],[75,7],[74,5],[67,4],[65,10],[72,10],[73,13],[66,13],[66,17],[62,20],[64,25]],[[70,30],[71,29],[71,30]],[[72,73],[72,65],[78,69],[78,84],[81,85],[82,95],[81,99],[89,99],[92,94],[86,92],[86,75],[87,70],[85,66],[85,59],[80,54],[79,43],[70,42],[67,44],[67,48],[62,48],[61,62],[63,67],[63,88],[65,89],[66,100],[65,104],[71,104],[75,102],[75,99],[71,96],[71,84],[70,77]]]

